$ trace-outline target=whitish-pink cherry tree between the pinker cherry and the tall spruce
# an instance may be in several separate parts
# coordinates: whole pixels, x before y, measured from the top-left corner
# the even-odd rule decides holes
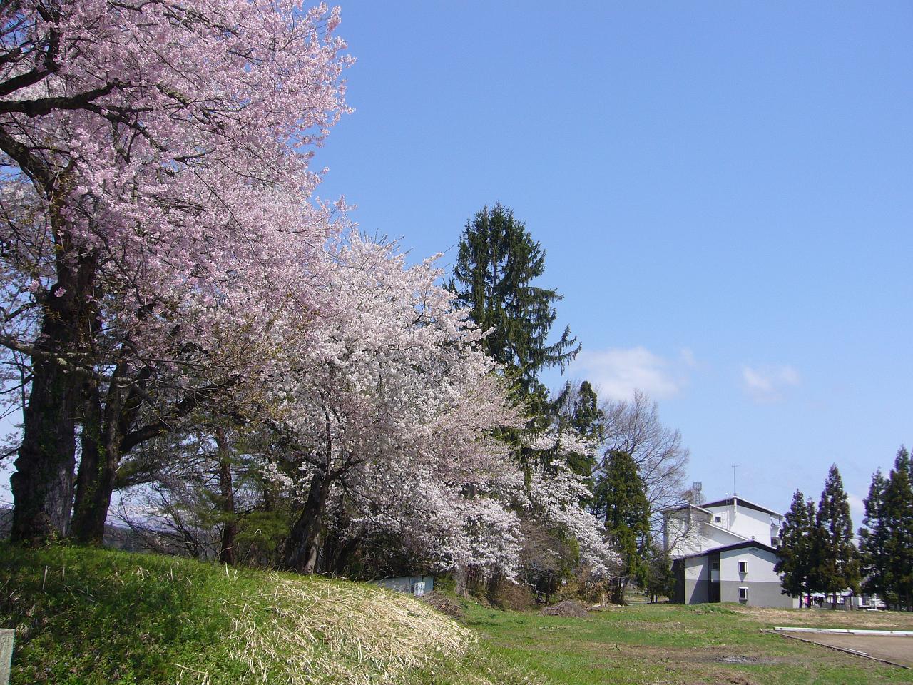
[[[420,500],[452,527],[467,489],[480,497],[507,463],[490,433],[519,422],[433,260],[407,269],[394,246],[353,234],[325,273],[320,317],[271,393],[280,470],[301,501],[284,564],[305,573],[340,497],[360,525],[397,526]]]

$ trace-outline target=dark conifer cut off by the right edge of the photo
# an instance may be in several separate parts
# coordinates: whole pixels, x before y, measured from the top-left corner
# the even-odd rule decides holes
[[[887,527],[885,585],[898,607],[913,610],[913,485],[910,456],[906,448],[897,452],[885,489],[883,507]],[[893,596],[891,596],[893,595]]]

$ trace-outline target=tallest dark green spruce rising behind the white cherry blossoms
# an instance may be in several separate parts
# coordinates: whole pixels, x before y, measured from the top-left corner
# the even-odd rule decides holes
[[[486,352],[514,375],[519,397],[540,411],[547,394],[539,372],[556,365],[563,370],[580,352],[570,328],[557,342],[548,342],[556,318],[553,304],[562,296],[532,285],[544,272],[545,251],[509,208],[496,204],[467,221],[450,281],[456,304],[468,308],[482,329],[490,329]]]

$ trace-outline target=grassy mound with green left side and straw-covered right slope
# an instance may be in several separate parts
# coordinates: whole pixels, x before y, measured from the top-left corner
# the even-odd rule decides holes
[[[0,544],[0,627],[14,685],[527,681],[407,595],[154,554]]]

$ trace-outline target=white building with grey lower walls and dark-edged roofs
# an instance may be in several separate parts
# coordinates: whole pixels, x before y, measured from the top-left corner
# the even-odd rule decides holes
[[[666,511],[664,537],[674,560],[673,601],[799,606],[782,594],[777,563],[782,514],[740,497]]]

